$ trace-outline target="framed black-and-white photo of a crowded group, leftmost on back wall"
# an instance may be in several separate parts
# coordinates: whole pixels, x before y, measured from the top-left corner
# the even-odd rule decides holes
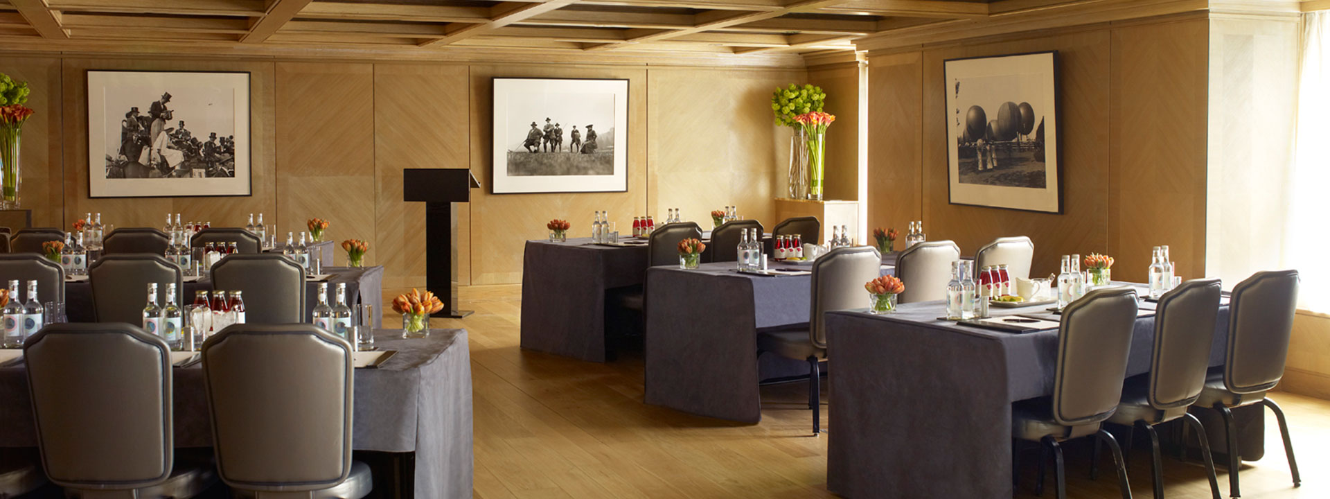
[[[250,73],[88,72],[90,197],[250,196]]]

